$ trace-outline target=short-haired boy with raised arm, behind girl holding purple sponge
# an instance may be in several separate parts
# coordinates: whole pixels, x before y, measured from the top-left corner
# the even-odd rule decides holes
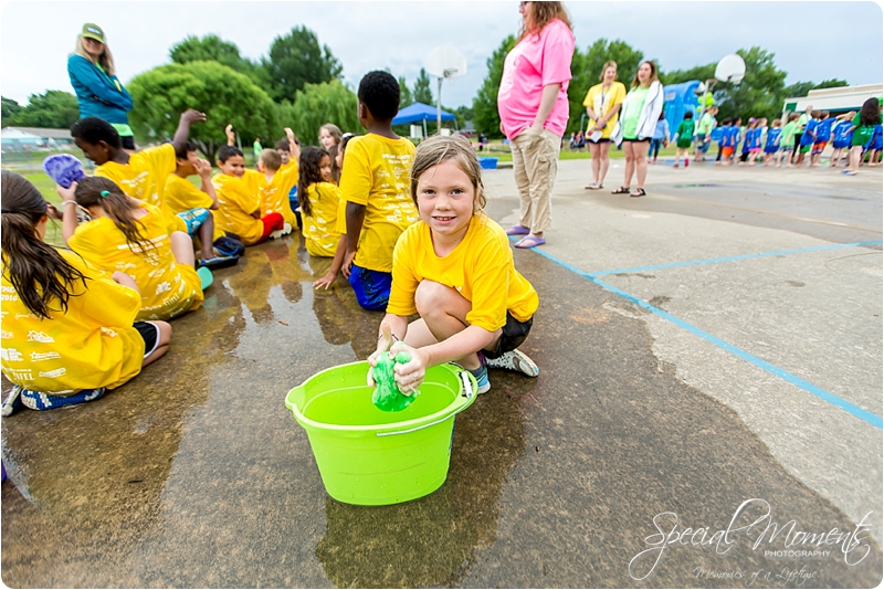
[[[181,114],[171,144],[143,149],[129,155],[116,129],[98,117],[80,119],[71,127],[71,136],[88,159],[95,162],[95,176],[114,181],[129,197],[164,208],[166,179],[175,172],[176,152],[183,148],[190,125],[206,120],[192,108]],[[182,231],[183,223],[181,223]]]

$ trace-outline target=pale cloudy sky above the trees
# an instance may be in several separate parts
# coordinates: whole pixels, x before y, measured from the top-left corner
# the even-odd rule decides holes
[[[664,71],[759,45],[776,54],[777,66],[788,72],[787,84],[832,77],[852,85],[882,82],[884,21],[875,2],[565,4],[579,48],[599,38],[622,39]],[[520,23],[516,1],[29,0],[3,2],[0,19],[0,92],[20,104],[46,89],[73,92],[66,57],[82,24],[95,22],[105,30],[124,83],[169,63],[169,49],[188,34],[215,33],[259,59],[275,36],[303,24],[329,46],[352,87],[366,72],[383,67],[411,85],[434,48],[453,45],[466,57],[467,73],[444,83],[442,102],[469,105],[486,74],[485,61]]]

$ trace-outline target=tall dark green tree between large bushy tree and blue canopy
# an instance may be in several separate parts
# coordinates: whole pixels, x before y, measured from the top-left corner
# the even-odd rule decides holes
[[[319,46],[316,33],[306,27],[295,27],[273,40],[270,55],[261,64],[269,80],[269,93],[274,101],[295,101],[306,84],[320,84],[340,78],[343,67],[328,45]]]

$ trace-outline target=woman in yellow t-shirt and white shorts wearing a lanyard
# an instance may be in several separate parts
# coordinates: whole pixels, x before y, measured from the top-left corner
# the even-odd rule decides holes
[[[617,114],[627,96],[627,87],[622,82],[617,82],[617,62],[604,63],[599,75],[601,84],[596,84],[587,93],[583,106],[589,115],[587,139],[589,152],[592,155],[592,183],[587,188],[598,190],[602,188],[604,177],[608,175],[608,150],[611,148],[611,133],[617,126]]]

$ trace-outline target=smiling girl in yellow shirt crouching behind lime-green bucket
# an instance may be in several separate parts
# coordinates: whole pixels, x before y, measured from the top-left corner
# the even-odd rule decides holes
[[[428,368],[449,361],[475,376],[480,393],[491,389],[488,367],[536,377],[537,366],[516,347],[530,331],[537,292],[516,271],[504,230],[482,211],[482,172],[470,144],[440,136],[422,143],[411,197],[420,221],[393,250],[390,301],[369,364],[388,350],[408,351],[411,360],[396,366],[403,393],[423,382]],[[409,324],[414,313],[421,317]],[[373,384],[370,371],[368,379]]]

